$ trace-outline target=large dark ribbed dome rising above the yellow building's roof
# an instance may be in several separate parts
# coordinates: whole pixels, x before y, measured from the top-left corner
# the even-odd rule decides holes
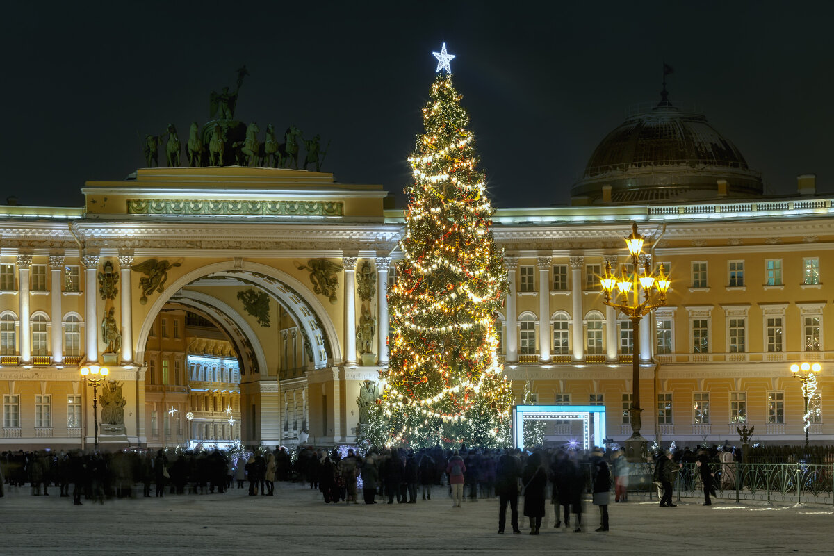
[[[602,140],[571,198],[574,204],[681,203],[761,192],[760,174],[738,148],[703,114],[677,108],[664,95]]]

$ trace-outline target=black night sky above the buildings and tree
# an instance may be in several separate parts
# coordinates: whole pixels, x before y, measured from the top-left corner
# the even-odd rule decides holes
[[[443,42],[499,207],[566,203],[625,108],[659,98],[663,60],[671,100],[697,103],[767,193],[799,173],[834,189],[831,3],[544,4],[14,3],[0,202],[80,206],[85,180],[144,166],[140,134],[174,123],[184,143],[243,63],[236,118],[320,133],[323,171],[402,198]]]

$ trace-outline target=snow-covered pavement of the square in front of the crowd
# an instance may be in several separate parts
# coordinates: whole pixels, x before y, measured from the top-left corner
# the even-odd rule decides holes
[[[521,518],[522,534],[511,533],[509,523],[507,533],[496,533],[497,499],[455,509],[445,488],[435,488],[430,501],[416,504],[325,504],[318,491],[276,483],[274,497],[249,497],[244,488],[103,505],[84,500],[80,507],[73,507],[72,498],[58,497],[57,488],[48,497],[30,496],[28,487],[7,488],[0,498],[0,554],[834,552],[831,506],[731,499],[704,507],[696,498],[676,503],[677,508],[659,508],[656,501],[636,496],[629,503],[612,503],[608,533],[595,533],[599,512],[590,502],[584,533],[553,528],[548,506],[541,534],[530,536],[526,518]],[[508,522],[509,517],[508,512]]]

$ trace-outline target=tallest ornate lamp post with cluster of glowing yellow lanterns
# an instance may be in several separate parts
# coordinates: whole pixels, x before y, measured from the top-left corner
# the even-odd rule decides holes
[[[662,264],[657,273],[653,273],[649,262],[646,261],[642,273],[640,272],[643,236],[637,232],[637,223],[631,224],[631,236],[625,238],[625,245],[631,254],[631,276],[625,273],[625,268],[623,268],[620,276],[617,277],[611,272],[610,263],[605,263],[605,276],[600,279],[600,285],[602,292],[605,293],[603,303],[618,309],[631,320],[631,329],[634,334],[634,348],[631,350],[632,402],[629,410],[632,434],[631,438],[625,441],[625,449],[631,461],[641,461],[646,449],[646,438],[640,434],[641,412],[643,411],[640,407],[640,320],[652,309],[666,305],[666,292],[671,282]],[[615,288],[618,293],[614,293]],[[655,303],[652,303],[653,292],[657,293]],[[643,294],[642,301],[641,293]],[[618,298],[620,303],[617,303]]]

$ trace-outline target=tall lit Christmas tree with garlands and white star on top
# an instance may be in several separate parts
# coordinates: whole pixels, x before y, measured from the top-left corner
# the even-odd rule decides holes
[[[389,368],[360,438],[505,446],[513,399],[495,353],[495,318],[507,287],[503,252],[490,232],[493,208],[469,117],[452,84],[453,56],[445,44],[435,56],[439,73],[423,109],[425,133],[409,158],[414,183],[399,243],[404,260],[388,293]]]

